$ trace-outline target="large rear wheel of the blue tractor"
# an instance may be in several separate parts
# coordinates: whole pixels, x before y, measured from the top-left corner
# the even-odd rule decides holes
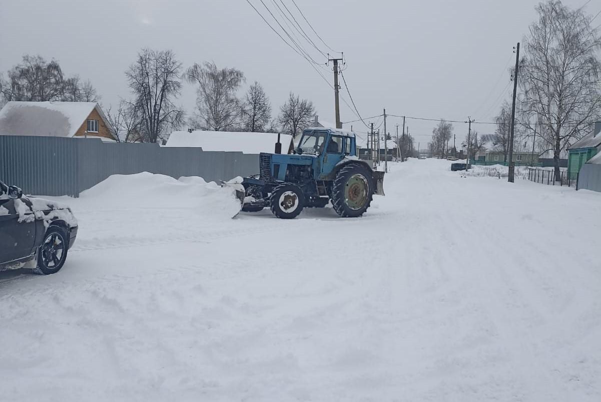
[[[374,184],[371,172],[361,165],[347,165],[338,171],[332,186],[332,206],[344,218],[361,216],[370,207]]]

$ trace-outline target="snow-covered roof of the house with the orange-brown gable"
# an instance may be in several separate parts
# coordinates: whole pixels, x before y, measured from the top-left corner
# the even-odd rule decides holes
[[[0,135],[72,137],[96,109],[96,102],[8,102],[0,111]]]

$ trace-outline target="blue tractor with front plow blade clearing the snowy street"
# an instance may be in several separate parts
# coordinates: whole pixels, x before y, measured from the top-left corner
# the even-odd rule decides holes
[[[293,219],[331,202],[340,216],[363,215],[374,194],[384,195],[384,172],[359,160],[356,149],[352,132],[310,128],[292,154],[261,153],[260,173],[242,181],[242,210],[269,207],[278,218]]]

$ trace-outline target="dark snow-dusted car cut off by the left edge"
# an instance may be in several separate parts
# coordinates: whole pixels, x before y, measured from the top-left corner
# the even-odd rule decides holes
[[[68,207],[24,196],[19,187],[0,181],[0,271],[58,272],[77,232],[77,220]]]

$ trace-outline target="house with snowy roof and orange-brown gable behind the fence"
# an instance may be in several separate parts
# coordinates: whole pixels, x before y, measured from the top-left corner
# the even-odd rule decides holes
[[[115,141],[96,102],[8,102],[0,111],[0,135]]]

